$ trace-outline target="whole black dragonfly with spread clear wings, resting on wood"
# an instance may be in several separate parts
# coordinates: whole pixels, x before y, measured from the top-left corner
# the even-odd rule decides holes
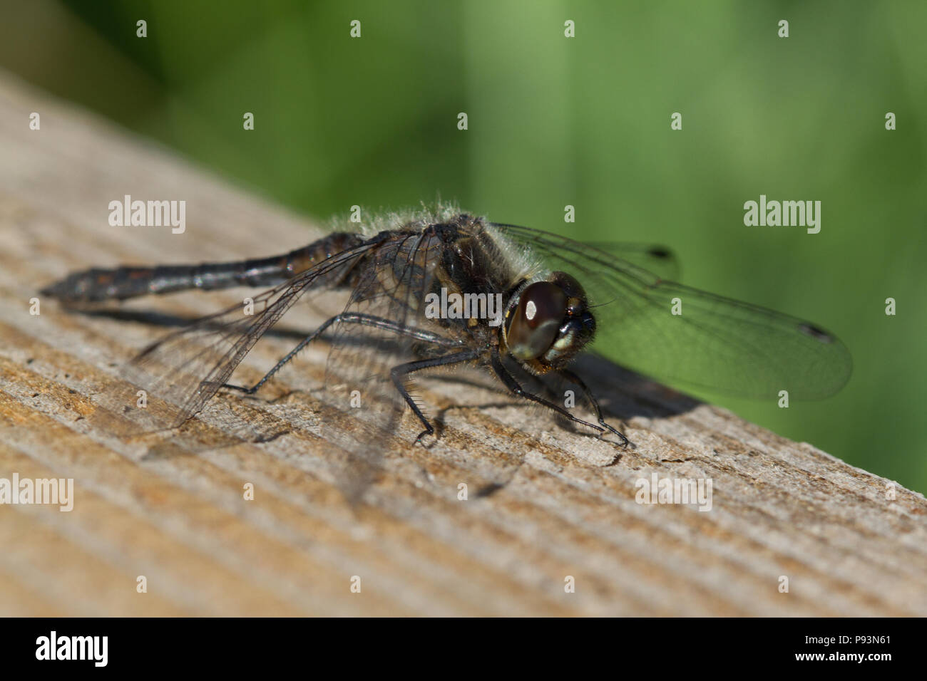
[[[515,396],[590,432],[615,435],[621,446],[627,436],[605,420],[570,369],[582,351],[594,349],[669,383],[745,397],[781,390],[794,398],[828,397],[847,382],[852,361],[834,334],[679,284],[675,272],[676,259],[663,246],[583,243],[444,206],[328,233],[270,258],[78,271],[42,294],[86,305],[267,287],[250,299],[257,311],[248,313],[242,303],[207,315],[133,359],[177,405],[173,426],[197,416],[223,389],[255,395],[323,336],[331,343],[326,383],[337,375],[338,385],[389,405],[381,412],[408,408],[423,428],[416,442],[435,428],[413,395],[414,374],[439,367],[475,366]],[[230,382],[301,297],[336,291],[347,295],[341,311],[301,337],[256,383]],[[547,376],[578,385],[594,420],[530,387],[533,378]]]

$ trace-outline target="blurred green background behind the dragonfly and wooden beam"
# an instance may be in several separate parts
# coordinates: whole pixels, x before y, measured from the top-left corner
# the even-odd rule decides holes
[[[684,283],[817,322],[855,361],[838,396],[787,410],[699,397],[927,491],[922,0],[2,11],[0,67],[314,218],[439,194],[496,221],[672,246]],[[760,194],[820,200],[821,232],[744,226]]]

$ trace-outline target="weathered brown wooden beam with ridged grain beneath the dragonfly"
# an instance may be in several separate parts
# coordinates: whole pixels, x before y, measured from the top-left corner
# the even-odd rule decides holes
[[[152,440],[108,432],[118,414],[97,397],[164,329],[51,300],[33,316],[30,298],[91,265],[272,255],[313,233],[9,77],[0,148],[0,478],[75,485],[70,512],[0,506],[0,614],[927,614],[921,495],[898,486],[887,499],[878,476],[597,359],[585,364],[590,384],[629,417],[637,444],[616,462],[612,446],[542,411],[440,379],[421,395],[441,439],[410,446],[405,420],[355,507],[333,473],[344,452],[326,435],[349,424],[326,431],[312,394],[248,402],[290,419],[269,442],[209,448],[220,434],[206,422],[196,426],[206,448],[146,457]],[[126,194],[185,199],[186,233],[110,227],[108,202]],[[184,294],[132,309],[195,316],[235,299]],[[291,345],[259,345],[244,371],[260,375]],[[267,399],[318,382],[325,351],[308,350]],[[636,503],[635,481],[652,473],[710,478],[711,511]]]

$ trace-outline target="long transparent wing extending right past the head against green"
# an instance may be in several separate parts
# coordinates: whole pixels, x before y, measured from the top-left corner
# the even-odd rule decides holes
[[[827,397],[849,379],[844,344],[810,322],[665,281],[597,246],[492,228],[578,279],[599,306],[594,349],[631,369],[744,397]]]

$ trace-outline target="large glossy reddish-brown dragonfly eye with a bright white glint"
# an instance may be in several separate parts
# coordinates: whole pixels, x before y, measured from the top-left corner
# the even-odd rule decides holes
[[[566,316],[566,294],[550,282],[537,282],[522,291],[512,314],[506,341],[515,359],[536,359],[553,344]]]

